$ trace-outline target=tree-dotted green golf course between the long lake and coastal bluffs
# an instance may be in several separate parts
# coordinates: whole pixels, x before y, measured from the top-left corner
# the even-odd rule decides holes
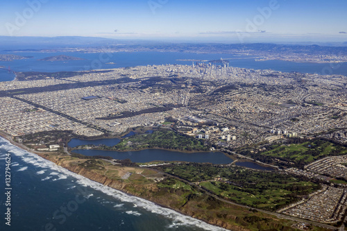
[[[276,172],[210,164],[172,164],[164,172],[196,182],[208,191],[243,205],[276,210],[319,188],[312,182]]]

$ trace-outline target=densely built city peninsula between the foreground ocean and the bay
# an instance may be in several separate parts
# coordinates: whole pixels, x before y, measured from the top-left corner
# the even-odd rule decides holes
[[[0,83],[0,130],[70,171],[229,230],[330,230],[346,215],[346,85],[346,76],[226,60],[18,73]],[[90,144],[72,147],[71,139]],[[99,139],[115,142],[92,144]],[[230,162],[115,154],[149,149]]]

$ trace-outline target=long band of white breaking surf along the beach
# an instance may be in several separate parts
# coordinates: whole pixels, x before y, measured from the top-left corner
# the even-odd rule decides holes
[[[197,228],[202,228],[203,230],[216,230],[216,231],[226,230],[223,228],[219,228],[215,225],[210,225],[198,219],[194,219],[190,216],[185,216],[172,209],[160,207],[159,205],[156,205],[155,203],[149,200],[144,200],[142,198],[130,196],[117,189],[106,187],[105,185],[102,185],[99,182],[94,182],[88,178],[85,178],[84,176],[80,176],[76,173],[72,173],[71,171],[68,171],[67,169],[62,168],[61,166],[58,166],[54,164],[53,162],[50,162],[49,160],[45,160],[44,158],[36,154],[29,153],[28,151],[24,151],[18,148],[17,146],[13,146],[12,144],[10,144],[10,142],[8,142],[6,139],[3,139],[1,137],[0,137],[0,142],[3,143],[1,145],[1,148],[5,149],[8,153],[12,153],[16,155],[17,157],[21,157],[22,160],[24,161],[28,160],[29,162],[32,162],[32,163],[37,162],[40,164],[40,167],[42,168],[49,168],[53,172],[58,171],[61,174],[64,174],[65,176],[74,177],[76,178],[76,183],[78,185],[81,185],[84,187],[91,187],[92,189],[96,191],[102,191],[103,194],[112,196],[113,198],[116,198],[117,200],[120,200],[122,202],[133,203],[134,205],[137,205],[138,207],[142,207],[146,209],[147,211],[152,212],[153,214],[160,214],[164,217],[172,219],[172,222],[174,225],[195,226]],[[49,180],[50,178],[52,178],[52,176],[48,176],[42,180]],[[90,196],[92,196],[92,194],[88,194],[87,197],[89,198]]]

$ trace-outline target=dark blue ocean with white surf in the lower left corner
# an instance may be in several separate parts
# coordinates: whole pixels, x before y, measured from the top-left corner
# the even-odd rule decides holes
[[[5,159],[11,157],[11,225]],[[63,169],[0,138],[0,230],[224,230]]]

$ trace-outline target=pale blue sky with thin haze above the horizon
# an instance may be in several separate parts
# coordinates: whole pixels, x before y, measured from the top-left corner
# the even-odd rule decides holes
[[[346,0],[12,0],[0,35],[346,42]]]

